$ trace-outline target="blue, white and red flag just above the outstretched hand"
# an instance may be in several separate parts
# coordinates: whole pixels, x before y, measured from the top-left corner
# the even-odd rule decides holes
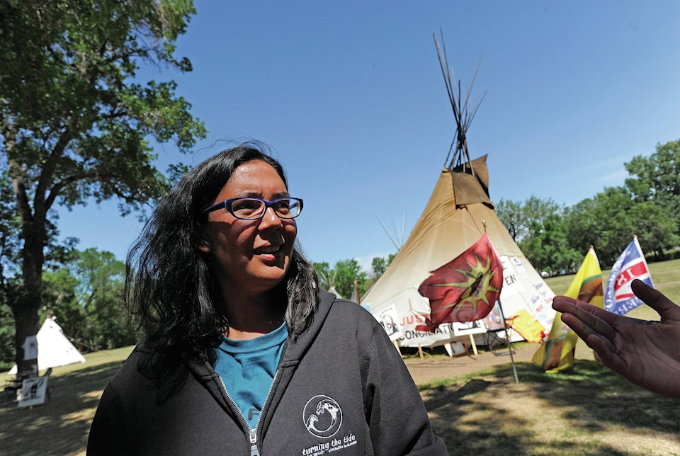
[[[633,235],[621,256],[611,268],[609,280],[607,281],[607,291],[604,295],[604,308],[614,314],[624,315],[630,310],[635,309],[640,304],[644,304],[633,294],[630,284],[633,279],[640,279],[642,282],[652,285],[650,268],[647,267],[645,255],[642,254],[638,236]]]

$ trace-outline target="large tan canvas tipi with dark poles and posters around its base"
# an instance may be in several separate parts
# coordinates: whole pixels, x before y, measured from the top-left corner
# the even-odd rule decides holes
[[[436,40],[435,40],[436,42]],[[418,222],[385,273],[362,298],[378,321],[388,321],[386,331],[400,346],[438,346],[457,334],[456,324],[442,324],[437,331],[416,331],[429,315],[429,302],[418,292],[430,272],[448,263],[488,234],[504,269],[500,302],[506,319],[521,316],[550,330],[555,312],[554,294],[527,261],[508,230],[494,212],[489,198],[487,156],[470,160],[465,132],[476,108],[467,109],[453,92],[446,55],[436,42],[451,105],[456,118],[455,152],[441,171],[429,202]],[[477,105],[478,106],[478,105]],[[453,147],[452,147],[453,150]],[[482,332],[482,322],[477,322]]]

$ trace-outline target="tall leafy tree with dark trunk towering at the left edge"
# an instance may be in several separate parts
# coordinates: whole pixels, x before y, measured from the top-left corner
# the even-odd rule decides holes
[[[38,329],[50,209],[118,198],[123,215],[138,210],[169,184],[147,138],[188,152],[205,136],[174,81],[135,79],[142,63],[191,71],[174,42],[193,13],[191,0],[0,3],[0,192],[13,195],[21,240],[8,297],[20,370]]]

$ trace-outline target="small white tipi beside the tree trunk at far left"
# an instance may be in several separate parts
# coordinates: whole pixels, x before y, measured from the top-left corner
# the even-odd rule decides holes
[[[64,336],[61,326],[52,318],[46,318],[36,335],[38,340],[38,369],[84,363],[85,358]],[[9,371],[16,374],[16,365]]]

